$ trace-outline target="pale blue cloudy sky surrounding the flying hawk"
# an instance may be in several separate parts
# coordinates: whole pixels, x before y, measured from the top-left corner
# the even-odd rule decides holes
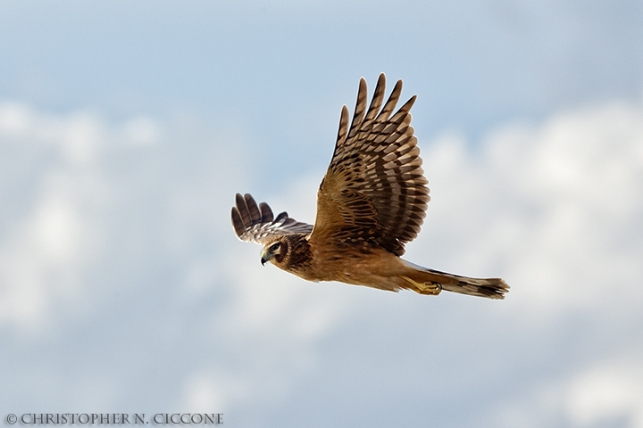
[[[0,410],[231,426],[643,427],[640,2],[0,2]],[[414,263],[501,302],[310,284],[361,76],[405,81]]]

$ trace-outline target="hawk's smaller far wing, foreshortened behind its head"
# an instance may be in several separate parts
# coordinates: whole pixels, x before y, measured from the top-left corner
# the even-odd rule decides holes
[[[274,241],[280,235],[310,234],[313,225],[300,223],[295,218],[289,218],[284,211],[274,218],[267,203],[255,202],[249,193],[237,193],[237,206],[232,207],[232,226],[241,241],[265,245]]]

